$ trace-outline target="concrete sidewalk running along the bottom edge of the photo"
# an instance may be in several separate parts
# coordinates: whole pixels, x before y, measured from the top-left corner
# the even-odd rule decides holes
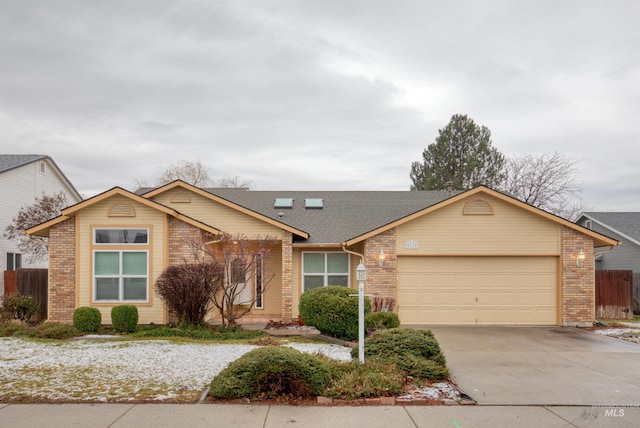
[[[638,407],[1,404],[0,427],[635,427]]]

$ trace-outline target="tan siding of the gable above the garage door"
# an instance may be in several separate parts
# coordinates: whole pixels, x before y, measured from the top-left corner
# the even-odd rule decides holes
[[[477,197],[474,197],[478,199]],[[541,216],[483,196],[493,215],[464,215],[467,199],[398,226],[398,255],[558,255],[560,228]],[[418,248],[407,249],[415,241]]]

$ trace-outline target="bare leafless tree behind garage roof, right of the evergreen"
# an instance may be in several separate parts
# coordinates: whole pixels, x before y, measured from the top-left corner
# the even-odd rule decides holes
[[[566,219],[574,219],[586,209],[580,197],[576,161],[561,153],[524,155],[507,159],[500,190]]]

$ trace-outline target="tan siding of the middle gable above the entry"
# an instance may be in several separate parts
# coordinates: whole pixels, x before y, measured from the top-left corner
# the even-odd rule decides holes
[[[269,235],[277,239],[282,238],[281,229],[194,193],[191,194],[190,203],[172,202],[175,194],[184,192],[183,189],[168,190],[156,196],[154,200],[223,232],[244,234],[248,237]]]

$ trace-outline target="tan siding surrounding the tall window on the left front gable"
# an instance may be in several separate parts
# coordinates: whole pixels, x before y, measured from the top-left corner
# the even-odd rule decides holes
[[[114,203],[130,203],[135,210],[135,217],[109,217],[108,213]],[[111,308],[117,304],[93,303],[92,257],[93,257],[93,228],[95,227],[147,227],[149,228],[149,303],[136,304],[139,322],[162,323],[163,304],[156,295],[153,284],[162,273],[165,262],[165,215],[153,208],[131,202],[130,199],[114,196],[94,205],[88,206],[78,213],[78,306],[95,306],[102,313],[102,322],[111,323]],[[110,247],[116,248],[116,247]],[[130,249],[131,247],[128,247]],[[124,303],[122,303],[124,304]]]

